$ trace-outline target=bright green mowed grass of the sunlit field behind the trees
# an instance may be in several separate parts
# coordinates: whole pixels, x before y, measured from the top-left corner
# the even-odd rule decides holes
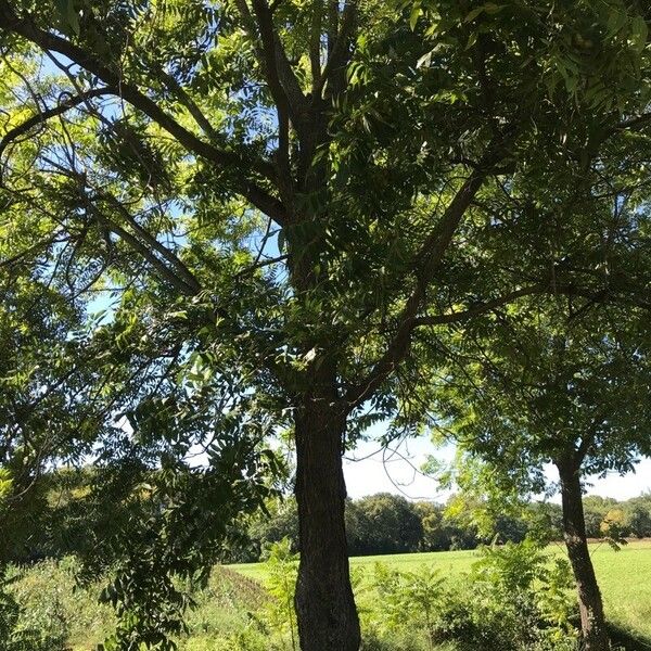
[[[552,553],[565,554],[563,545],[552,545]],[[605,542],[590,545],[597,578],[603,595],[605,614],[617,626],[642,636],[651,642],[651,540],[635,540],[613,550]],[[372,570],[376,562],[399,571],[417,571],[419,566],[439,570],[442,576],[458,580],[471,570],[478,552],[435,551],[391,556],[357,557],[350,559],[353,569]],[[231,565],[245,576],[265,583],[263,563]]]

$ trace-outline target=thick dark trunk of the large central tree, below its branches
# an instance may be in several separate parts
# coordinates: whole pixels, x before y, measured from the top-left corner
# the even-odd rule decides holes
[[[332,384],[334,386],[334,383]],[[317,391],[296,410],[296,501],[301,564],[296,616],[302,651],[357,651],[342,468],[345,417],[336,392]]]

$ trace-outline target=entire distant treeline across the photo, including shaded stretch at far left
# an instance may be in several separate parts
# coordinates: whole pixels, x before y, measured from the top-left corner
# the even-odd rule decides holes
[[[43,558],[61,558],[81,553],[92,557],[98,536],[111,536],[122,526],[114,512],[113,499],[95,499],[89,494],[89,470],[62,471],[41,477],[31,494],[31,506],[5,522],[0,546],[13,562],[24,563]],[[369,556],[416,551],[474,549],[497,538],[500,542],[519,542],[527,533],[562,539],[560,505],[531,502],[516,514],[500,514],[486,526],[478,527],[471,506],[458,508],[459,499],[448,503],[410,501],[399,495],[379,493],[346,505],[346,532],[349,553]],[[145,487],[132,495],[132,508],[156,510]],[[457,508],[450,508],[457,505]],[[600,537],[651,537],[651,494],[627,501],[585,497],[587,535]],[[129,513],[123,513],[129,518]],[[298,515],[293,497],[273,499],[267,513],[238,524],[222,550],[225,562],[248,562],[264,559],[269,547],[289,538],[298,546]]]

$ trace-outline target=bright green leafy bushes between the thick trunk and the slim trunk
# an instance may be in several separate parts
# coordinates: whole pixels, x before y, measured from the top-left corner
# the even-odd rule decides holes
[[[460,584],[376,564],[361,592],[365,649],[569,651],[574,600],[565,561],[532,541],[487,548]]]

